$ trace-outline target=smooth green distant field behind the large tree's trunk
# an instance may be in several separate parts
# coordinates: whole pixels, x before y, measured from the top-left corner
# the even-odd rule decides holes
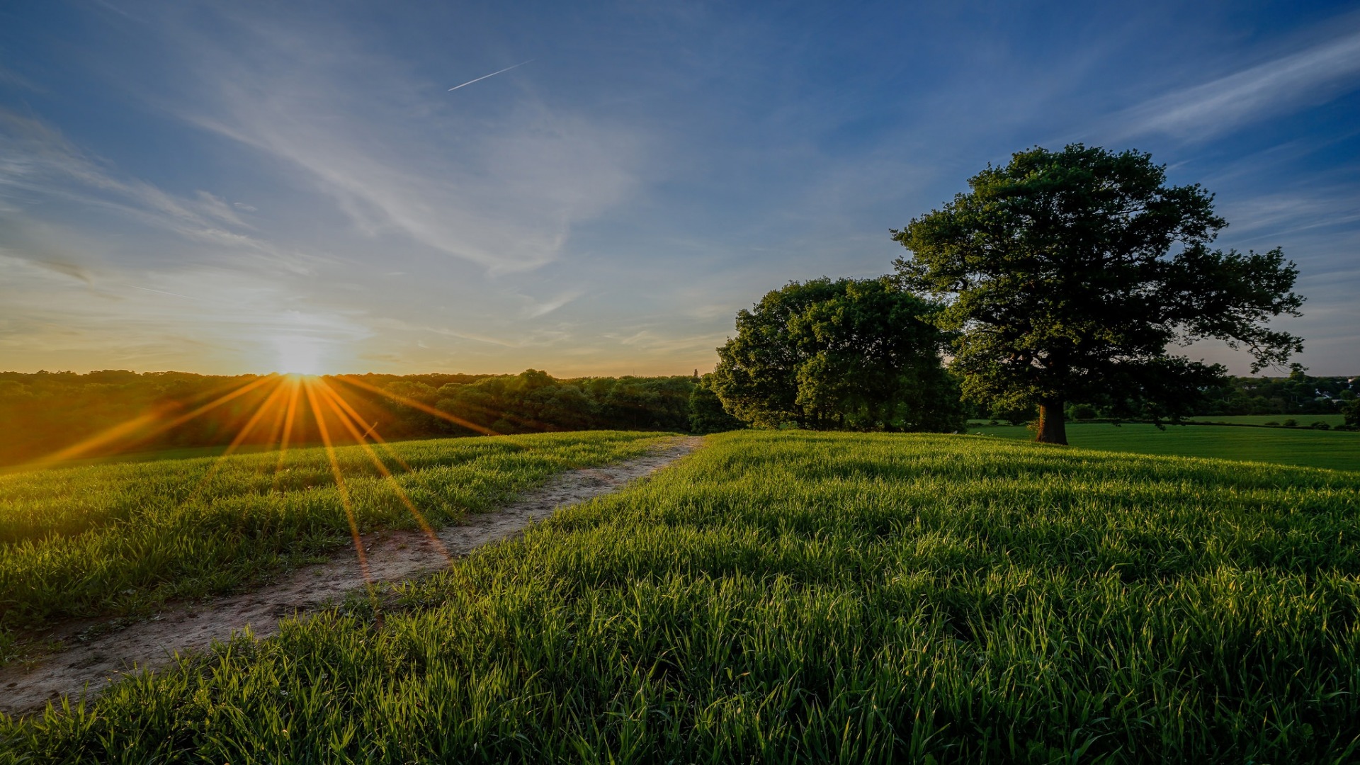
[[[1024,426],[985,425],[970,433],[997,438],[1034,438]],[[1176,455],[1183,457],[1219,457],[1300,467],[1360,471],[1360,433],[1310,430],[1307,427],[1214,427],[1209,425],[1152,425],[1069,422],[1068,441],[1073,446],[1137,452],[1142,455]]]

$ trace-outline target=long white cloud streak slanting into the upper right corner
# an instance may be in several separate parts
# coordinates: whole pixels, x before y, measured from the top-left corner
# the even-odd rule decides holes
[[[1334,37],[1115,114],[1112,139],[1166,133],[1208,139],[1360,87],[1360,31]]]

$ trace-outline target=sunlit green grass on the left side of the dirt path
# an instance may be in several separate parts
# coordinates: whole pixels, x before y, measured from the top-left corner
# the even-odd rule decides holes
[[[641,455],[654,433],[407,441],[389,470],[435,527],[567,467]],[[385,453],[385,452],[382,452]],[[337,449],[360,532],[413,528],[359,446]],[[144,611],[223,592],[350,543],[324,449],[118,463],[0,476],[0,628]],[[215,472],[212,472],[215,470]],[[4,633],[0,633],[4,637]]]

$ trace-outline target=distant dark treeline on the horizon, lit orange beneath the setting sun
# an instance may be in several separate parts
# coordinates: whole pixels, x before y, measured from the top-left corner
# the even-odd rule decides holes
[[[366,437],[386,440],[487,432],[690,432],[690,399],[698,388],[698,378],[691,376],[558,380],[533,369],[520,374],[356,374],[322,380],[351,407],[351,419],[362,422]],[[321,442],[307,397],[296,396],[290,418],[286,388],[256,376],[3,372],[0,464],[27,463],[79,444],[88,448],[71,456],[220,446],[242,433],[243,445],[277,444],[286,429],[292,445]],[[710,402],[702,400],[698,408],[704,404]],[[329,411],[324,400],[318,406]],[[286,425],[288,419],[291,426]],[[710,414],[695,423],[703,432],[734,425],[722,419],[721,411],[717,418]],[[337,422],[329,423],[329,433],[339,442],[354,442]]]

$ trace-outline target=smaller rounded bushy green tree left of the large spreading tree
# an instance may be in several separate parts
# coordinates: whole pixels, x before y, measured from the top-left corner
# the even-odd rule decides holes
[[[959,430],[933,310],[887,278],[790,282],[737,313],[713,389],[762,427]]]

